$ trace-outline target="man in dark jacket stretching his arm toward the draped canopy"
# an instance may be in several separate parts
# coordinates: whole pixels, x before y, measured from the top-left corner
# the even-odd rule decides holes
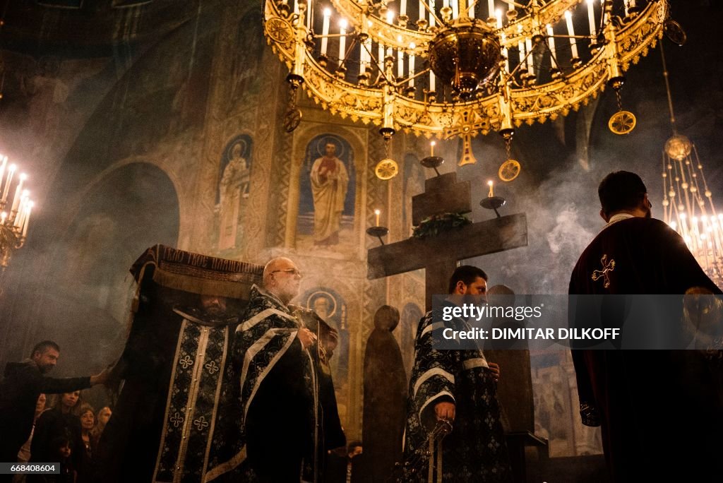
[[[0,462],[17,461],[17,452],[33,428],[35,403],[40,393],[69,393],[102,384],[108,378],[108,369],[95,376],[55,379],[45,375],[55,367],[60,347],[53,341],[38,343],[30,358],[22,362],[9,362],[0,382]],[[9,479],[8,479],[9,478]],[[0,482],[10,481],[12,475],[0,475]]]

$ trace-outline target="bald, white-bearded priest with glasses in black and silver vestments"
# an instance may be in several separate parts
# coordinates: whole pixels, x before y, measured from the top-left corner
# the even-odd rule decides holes
[[[236,430],[220,432],[214,443],[221,453],[233,450],[228,459],[216,458],[219,463],[205,482],[317,481],[325,448],[344,444],[343,439],[324,441],[325,434],[343,433],[338,418],[335,427],[323,427],[329,419],[322,403],[329,399],[320,396],[328,385],[313,354],[319,335],[288,305],[300,283],[294,262],[278,257],[266,264],[263,287],[252,288],[234,339],[226,390],[230,404],[217,422],[221,431],[229,425]]]

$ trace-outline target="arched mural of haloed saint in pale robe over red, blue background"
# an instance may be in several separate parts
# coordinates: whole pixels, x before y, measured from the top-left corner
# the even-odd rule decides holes
[[[298,232],[311,235],[313,247],[332,247],[342,242],[345,228],[353,228],[351,147],[334,134],[317,136],[307,145],[304,166],[308,171],[301,175]]]

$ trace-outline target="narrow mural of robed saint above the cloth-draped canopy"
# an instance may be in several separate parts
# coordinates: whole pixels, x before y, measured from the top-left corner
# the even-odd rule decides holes
[[[231,140],[221,159],[221,180],[218,183],[218,249],[236,247],[241,200],[249,197],[252,140],[241,134]]]

